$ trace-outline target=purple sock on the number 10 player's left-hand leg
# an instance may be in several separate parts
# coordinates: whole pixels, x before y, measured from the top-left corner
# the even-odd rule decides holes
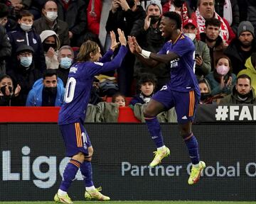
[[[60,183],[60,190],[68,192],[68,188],[70,187],[73,179],[75,179],[75,175],[80,168],[81,163],[75,159],[70,159],[67,166],[65,167],[63,173],[63,181]]]

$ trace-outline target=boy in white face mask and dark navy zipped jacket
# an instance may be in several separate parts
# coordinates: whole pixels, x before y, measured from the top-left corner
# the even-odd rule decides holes
[[[6,60],[6,74],[9,74],[11,69],[15,69],[14,58],[16,56],[16,50],[20,45],[29,45],[33,47],[33,61],[36,62],[36,69],[40,70],[43,74],[46,69],[46,58],[43,54],[43,45],[41,38],[32,28],[33,26],[33,15],[28,11],[24,10],[19,13],[18,26],[16,30],[11,31],[8,34],[11,42],[12,52],[11,57]]]

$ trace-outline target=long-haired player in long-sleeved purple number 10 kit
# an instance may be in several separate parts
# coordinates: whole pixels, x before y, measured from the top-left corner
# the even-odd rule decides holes
[[[87,40],[80,47],[78,62],[70,67],[58,125],[65,142],[66,157],[71,157],[71,159],[65,167],[58,193],[54,196],[55,202],[73,203],[67,192],[78,169],[84,178],[86,199],[110,200],[110,197],[102,195],[99,192],[101,189],[95,188],[93,184],[91,164],[93,149],[83,124],[94,76],[119,68],[127,53],[127,40],[124,32],[120,29],[117,31],[119,42],[116,42],[114,32],[111,32],[111,49],[102,58],[100,58],[100,47],[97,43]],[[119,52],[111,61],[114,48],[119,43],[121,44]]]

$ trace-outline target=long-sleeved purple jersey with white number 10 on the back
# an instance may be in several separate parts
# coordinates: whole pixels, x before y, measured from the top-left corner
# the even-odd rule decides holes
[[[70,67],[65,87],[64,103],[59,112],[59,125],[76,122],[84,123],[93,77],[120,67],[126,53],[127,47],[122,45],[111,62],[107,61],[110,61],[113,52],[108,51],[100,62],[87,61],[75,63]]]

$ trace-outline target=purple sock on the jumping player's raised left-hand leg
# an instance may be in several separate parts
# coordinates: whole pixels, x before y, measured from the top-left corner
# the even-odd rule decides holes
[[[151,139],[154,140],[156,147],[164,146],[164,140],[163,140],[163,136],[161,134],[161,127],[160,127],[160,123],[157,120],[157,118],[156,117],[154,117],[154,118],[146,118],[145,117],[145,121],[146,121],[148,130],[149,130],[149,134],[151,135]]]

